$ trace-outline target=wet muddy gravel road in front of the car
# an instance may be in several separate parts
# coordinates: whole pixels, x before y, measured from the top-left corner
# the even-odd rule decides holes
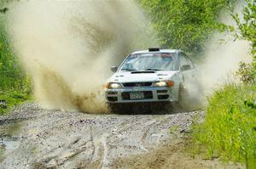
[[[0,117],[0,168],[243,168],[192,158],[204,112],[90,115],[23,104]]]

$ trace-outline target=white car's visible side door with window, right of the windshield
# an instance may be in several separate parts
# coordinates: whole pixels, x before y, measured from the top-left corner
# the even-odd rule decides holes
[[[180,71],[183,78],[183,86],[188,86],[189,82],[194,81],[195,78],[195,66],[192,64],[189,57],[184,54],[183,52],[180,52],[179,54],[179,65],[180,65]]]

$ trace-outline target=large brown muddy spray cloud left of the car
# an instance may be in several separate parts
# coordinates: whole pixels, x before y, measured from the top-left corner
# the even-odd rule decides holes
[[[35,97],[49,109],[104,112],[110,65],[131,50],[158,46],[133,1],[18,2],[8,18]]]

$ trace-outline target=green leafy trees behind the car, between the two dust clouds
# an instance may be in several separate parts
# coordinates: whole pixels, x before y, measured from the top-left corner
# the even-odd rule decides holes
[[[195,58],[213,31],[223,31],[218,14],[235,0],[140,0],[165,48],[181,48]]]

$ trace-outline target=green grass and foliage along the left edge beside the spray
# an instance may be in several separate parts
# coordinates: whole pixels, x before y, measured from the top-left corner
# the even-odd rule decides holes
[[[19,60],[10,48],[3,14],[0,14],[0,101],[2,102],[0,114],[8,112],[14,105],[31,98],[30,83]]]

